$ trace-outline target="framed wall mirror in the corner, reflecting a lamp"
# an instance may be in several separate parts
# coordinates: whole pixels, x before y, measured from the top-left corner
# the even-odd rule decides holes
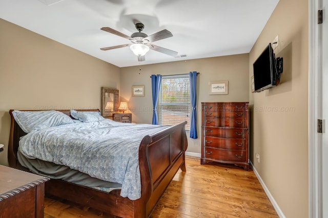
[[[118,90],[101,87],[101,115],[112,116],[114,111],[118,111]]]

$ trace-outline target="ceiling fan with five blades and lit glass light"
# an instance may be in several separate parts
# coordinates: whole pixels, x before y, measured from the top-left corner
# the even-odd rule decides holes
[[[116,45],[116,46],[110,46],[110,47],[103,47],[100,50],[107,51],[112,49],[118,49],[120,47],[127,47],[130,46],[131,51],[138,56],[138,61],[145,61],[145,55],[146,53],[151,49],[156,52],[160,52],[163,54],[167,54],[170,56],[175,57],[178,53],[169,49],[165,49],[163,47],[151,44],[150,42],[158,41],[161,39],[166,39],[169,37],[172,37],[172,33],[168,30],[161,30],[157,33],[154,33],[150,36],[148,36],[145,33],[141,33],[142,30],[144,30],[145,26],[137,22],[135,24],[135,28],[138,30],[138,32],[133,33],[131,36],[128,36],[124,33],[120,33],[112,28],[109,27],[103,27],[100,30],[104,30],[106,32],[115,34],[117,36],[121,36],[123,38],[129,39],[131,41],[130,44],[122,44],[122,45]]]

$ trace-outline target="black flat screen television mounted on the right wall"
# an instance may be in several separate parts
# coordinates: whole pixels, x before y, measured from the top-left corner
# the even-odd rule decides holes
[[[261,55],[253,63],[254,91],[260,92],[272,88],[279,83],[276,58],[271,43],[265,47]]]

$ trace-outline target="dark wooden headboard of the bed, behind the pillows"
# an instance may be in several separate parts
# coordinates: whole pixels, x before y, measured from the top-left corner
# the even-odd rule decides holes
[[[76,109],[74,109],[76,110]],[[18,168],[18,169],[23,169],[25,171],[27,171],[27,169],[25,167],[23,167],[22,165],[20,165],[20,163],[17,160],[17,151],[18,151],[18,146],[19,146],[19,138],[26,135],[27,133],[25,133],[22,128],[19,127],[19,125],[16,123],[14,116],[12,115],[12,111],[14,110],[10,110],[9,114],[11,117],[11,123],[10,123],[10,135],[9,135],[9,142],[8,142],[8,162],[9,162],[9,166],[13,167],[13,168]],[[22,110],[22,111],[40,111],[40,110]],[[57,110],[60,112],[65,113],[66,115],[70,116],[72,119],[74,119],[71,116],[71,110]],[[80,110],[76,110],[76,111],[90,111],[90,112],[95,112],[95,111],[99,111],[99,109],[80,109]]]

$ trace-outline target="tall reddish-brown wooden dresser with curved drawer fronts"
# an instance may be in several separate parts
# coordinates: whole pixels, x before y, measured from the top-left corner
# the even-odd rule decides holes
[[[248,102],[203,102],[201,107],[200,163],[235,164],[248,171]]]

